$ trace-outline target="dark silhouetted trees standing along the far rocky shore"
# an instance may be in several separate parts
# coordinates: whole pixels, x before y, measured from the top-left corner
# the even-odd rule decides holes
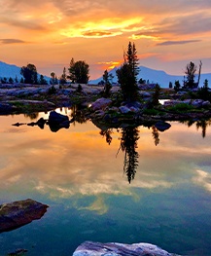
[[[175,81],[174,90],[179,91],[181,89],[194,89],[199,85],[200,71],[201,71],[202,62],[199,64],[199,74],[198,80],[195,82],[195,73],[197,70],[196,65],[191,61],[187,64],[185,70],[185,76],[183,81],[183,87],[180,85],[179,81]],[[118,83],[123,91],[123,99],[127,101],[132,101],[136,98],[138,91],[138,84],[146,84],[146,81],[142,78],[137,81],[137,76],[139,74],[138,67],[138,57],[135,44],[129,42],[127,46],[127,51],[123,53],[123,65],[117,70],[116,74],[118,77]],[[18,78],[2,78],[0,82],[5,83],[25,83],[32,85],[65,85],[67,83],[77,83],[77,84],[88,84],[89,80],[89,66],[85,60],[75,61],[72,57],[70,60],[69,67],[63,68],[63,72],[59,78],[55,75],[54,72],[51,73],[50,81],[43,75],[38,75],[37,68],[34,64],[27,64],[22,66],[20,69],[20,74],[22,78],[18,81]],[[107,70],[103,73],[103,80],[100,82],[104,86],[104,95],[108,96],[112,88],[112,79],[113,76],[109,74]],[[204,87],[208,88],[208,81],[204,81]],[[173,88],[173,84],[169,82],[169,88]]]

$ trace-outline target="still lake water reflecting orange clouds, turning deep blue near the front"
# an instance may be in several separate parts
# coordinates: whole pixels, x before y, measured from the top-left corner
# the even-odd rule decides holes
[[[41,117],[48,115],[34,121]],[[18,248],[67,256],[85,240],[211,255],[209,122],[173,122],[164,132],[101,131],[90,121],[57,132],[12,126],[31,121],[0,117],[0,204],[30,198],[50,207],[40,220],[0,234],[0,256]]]

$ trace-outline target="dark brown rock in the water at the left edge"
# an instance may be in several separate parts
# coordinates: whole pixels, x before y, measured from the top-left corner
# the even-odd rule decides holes
[[[49,206],[38,201],[25,200],[0,205],[0,233],[15,230],[40,219]]]

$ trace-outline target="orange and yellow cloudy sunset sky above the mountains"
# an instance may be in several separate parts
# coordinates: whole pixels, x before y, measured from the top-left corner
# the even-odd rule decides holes
[[[123,62],[134,42],[140,65],[184,75],[202,60],[211,73],[210,0],[0,0],[0,60],[33,63],[59,77],[86,60],[90,79]]]

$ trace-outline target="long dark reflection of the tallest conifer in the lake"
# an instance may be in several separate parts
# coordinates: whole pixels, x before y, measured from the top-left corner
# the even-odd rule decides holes
[[[121,149],[124,152],[123,172],[126,173],[129,183],[134,179],[138,167],[139,154],[136,152],[138,139],[138,128],[122,128]]]

